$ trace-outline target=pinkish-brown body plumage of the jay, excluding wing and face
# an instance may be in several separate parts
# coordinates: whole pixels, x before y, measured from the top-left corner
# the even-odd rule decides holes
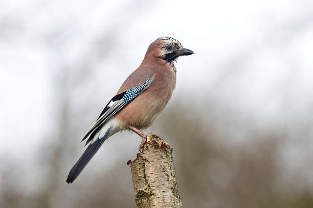
[[[176,85],[176,70],[171,63],[160,58],[164,43],[165,41],[158,39],[150,44],[141,65],[127,77],[117,92],[124,92],[152,77],[148,88],[115,115],[122,123],[121,129],[127,129],[129,125],[138,129],[149,127],[172,96]]]

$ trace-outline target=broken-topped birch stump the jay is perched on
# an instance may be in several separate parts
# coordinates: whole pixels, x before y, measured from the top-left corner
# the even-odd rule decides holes
[[[130,164],[136,204],[147,207],[183,207],[172,157],[172,148],[149,133],[143,151]]]

